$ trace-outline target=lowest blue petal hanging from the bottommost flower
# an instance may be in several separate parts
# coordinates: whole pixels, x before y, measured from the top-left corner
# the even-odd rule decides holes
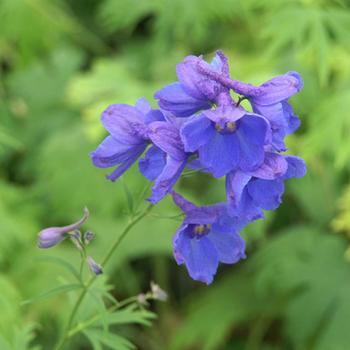
[[[174,251],[186,264],[191,278],[206,284],[213,281],[219,260],[215,247],[207,237],[190,238],[182,233],[174,244]]]

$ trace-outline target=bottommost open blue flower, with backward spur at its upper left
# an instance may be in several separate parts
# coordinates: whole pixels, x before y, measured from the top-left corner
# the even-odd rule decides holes
[[[245,258],[245,243],[239,230],[246,220],[232,218],[225,204],[197,207],[173,192],[173,199],[185,214],[174,239],[174,257],[185,264],[196,281],[210,284],[219,262],[234,264]]]

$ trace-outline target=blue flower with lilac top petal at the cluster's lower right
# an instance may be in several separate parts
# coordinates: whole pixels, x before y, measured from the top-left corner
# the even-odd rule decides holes
[[[263,165],[254,172],[231,172],[226,177],[230,215],[256,220],[262,209],[274,210],[282,202],[284,181],[306,174],[305,162],[295,156],[267,152]]]

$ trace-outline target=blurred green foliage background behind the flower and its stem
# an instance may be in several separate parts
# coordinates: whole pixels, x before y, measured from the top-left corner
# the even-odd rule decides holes
[[[350,348],[350,4],[344,0],[0,1],[0,349],[52,349],[69,298],[21,301],[58,285],[79,256],[64,242],[36,248],[39,230],[67,224],[86,205],[98,261],[127,221],[122,181],[88,154],[110,103],[152,98],[189,54],[221,48],[231,75],[259,84],[289,70],[305,87],[292,99],[302,120],[288,138],[308,174],[282,206],[243,233],[248,259],[221,266],[205,286],[172,258],[180,224],[165,199],[136,226],[107,267],[117,298],[155,280],[169,301],[152,327],[122,327],[139,349],[347,350]],[[154,102],[153,102],[154,103]],[[138,198],[146,181],[124,176]],[[177,185],[197,203],[223,200],[205,175]],[[106,283],[102,278],[101,283]],[[118,330],[119,332],[119,330]],[[67,349],[90,349],[83,336]]]

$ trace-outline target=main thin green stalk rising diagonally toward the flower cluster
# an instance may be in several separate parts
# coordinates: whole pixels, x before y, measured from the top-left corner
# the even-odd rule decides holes
[[[141,212],[139,215],[137,215],[136,217],[132,218],[129,222],[129,224],[125,227],[124,231],[121,233],[121,235],[117,238],[117,240],[114,242],[114,244],[112,245],[112,247],[109,249],[109,251],[107,252],[107,254],[105,255],[105,257],[102,259],[101,265],[105,266],[107,264],[107,262],[109,261],[109,259],[111,258],[111,256],[113,255],[113,253],[115,252],[115,250],[118,248],[118,246],[120,245],[120,243],[123,241],[123,239],[125,238],[125,236],[128,234],[128,232],[140,221],[142,220],[145,216],[147,216],[147,214],[151,211],[151,209],[153,208],[153,205],[150,204],[148,205],[145,210],[143,212]],[[59,340],[59,342],[57,343],[55,349],[59,350],[62,349],[62,346],[64,345],[64,343],[66,342],[66,340],[68,339],[68,335],[69,335],[69,330],[72,327],[72,324],[74,322],[74,318],[79,310],[79,307],[81,305],[81,303],[83,302],[85,295],[87,294],[89,288],[91,287],[91,285],[94,283],[94,281],[96,280],[96,275],[92,276],[87,283],[84,286],[84,290],[80,293],[74,307],[73,310],[69,316],[68,322],[67,322],[67,326],[65,327],[65,331],[63,333],[63,336],[61,337],[61,339]]]

